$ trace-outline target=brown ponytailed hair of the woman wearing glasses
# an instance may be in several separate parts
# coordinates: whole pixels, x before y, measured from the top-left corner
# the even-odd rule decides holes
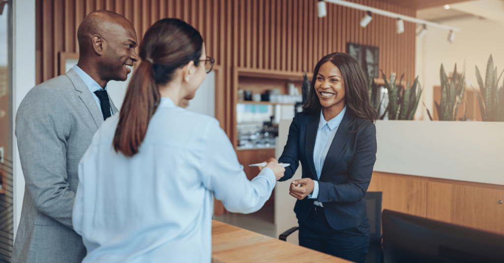
[[[140,65],[133,72],[119,113],[113,140],[116,152],[133,156],[144,141],[161,96],[158,85],[171,81],[176,69],[194,61],[203,49],[200,32],[178,19],[162,19],[145,33],[139,47]]]

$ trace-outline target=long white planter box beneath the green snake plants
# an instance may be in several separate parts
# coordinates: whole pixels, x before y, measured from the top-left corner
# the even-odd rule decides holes
[[[377,121],[375,171],[504,185],[504,122]]]

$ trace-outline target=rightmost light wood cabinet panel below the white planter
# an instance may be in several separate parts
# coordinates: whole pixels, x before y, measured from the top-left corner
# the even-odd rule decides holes
[[[504,234],[504,187],[428,182],[427,217]]]

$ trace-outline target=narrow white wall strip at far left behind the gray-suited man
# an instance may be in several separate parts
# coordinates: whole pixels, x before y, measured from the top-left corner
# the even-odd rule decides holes
[[[28,91],[35,86],[35,0],[14,0],[13,5],[13,106],[16,111]],[[14,131],[13,131],[14,132]],[[14,159],[14,238],[18,231],[25,179],[19,161],[16,136],[13,136]]]

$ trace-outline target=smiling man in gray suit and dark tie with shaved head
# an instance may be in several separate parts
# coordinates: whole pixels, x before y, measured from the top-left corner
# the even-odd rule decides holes
[[[79,62],[26,95],[16,118],[26,181],[13,262],[81,262],[86,248],[72,227],[77,166],[104,119],[117,112],[106,92],[137,61],[130,21],[95,11],[77,32]]]

